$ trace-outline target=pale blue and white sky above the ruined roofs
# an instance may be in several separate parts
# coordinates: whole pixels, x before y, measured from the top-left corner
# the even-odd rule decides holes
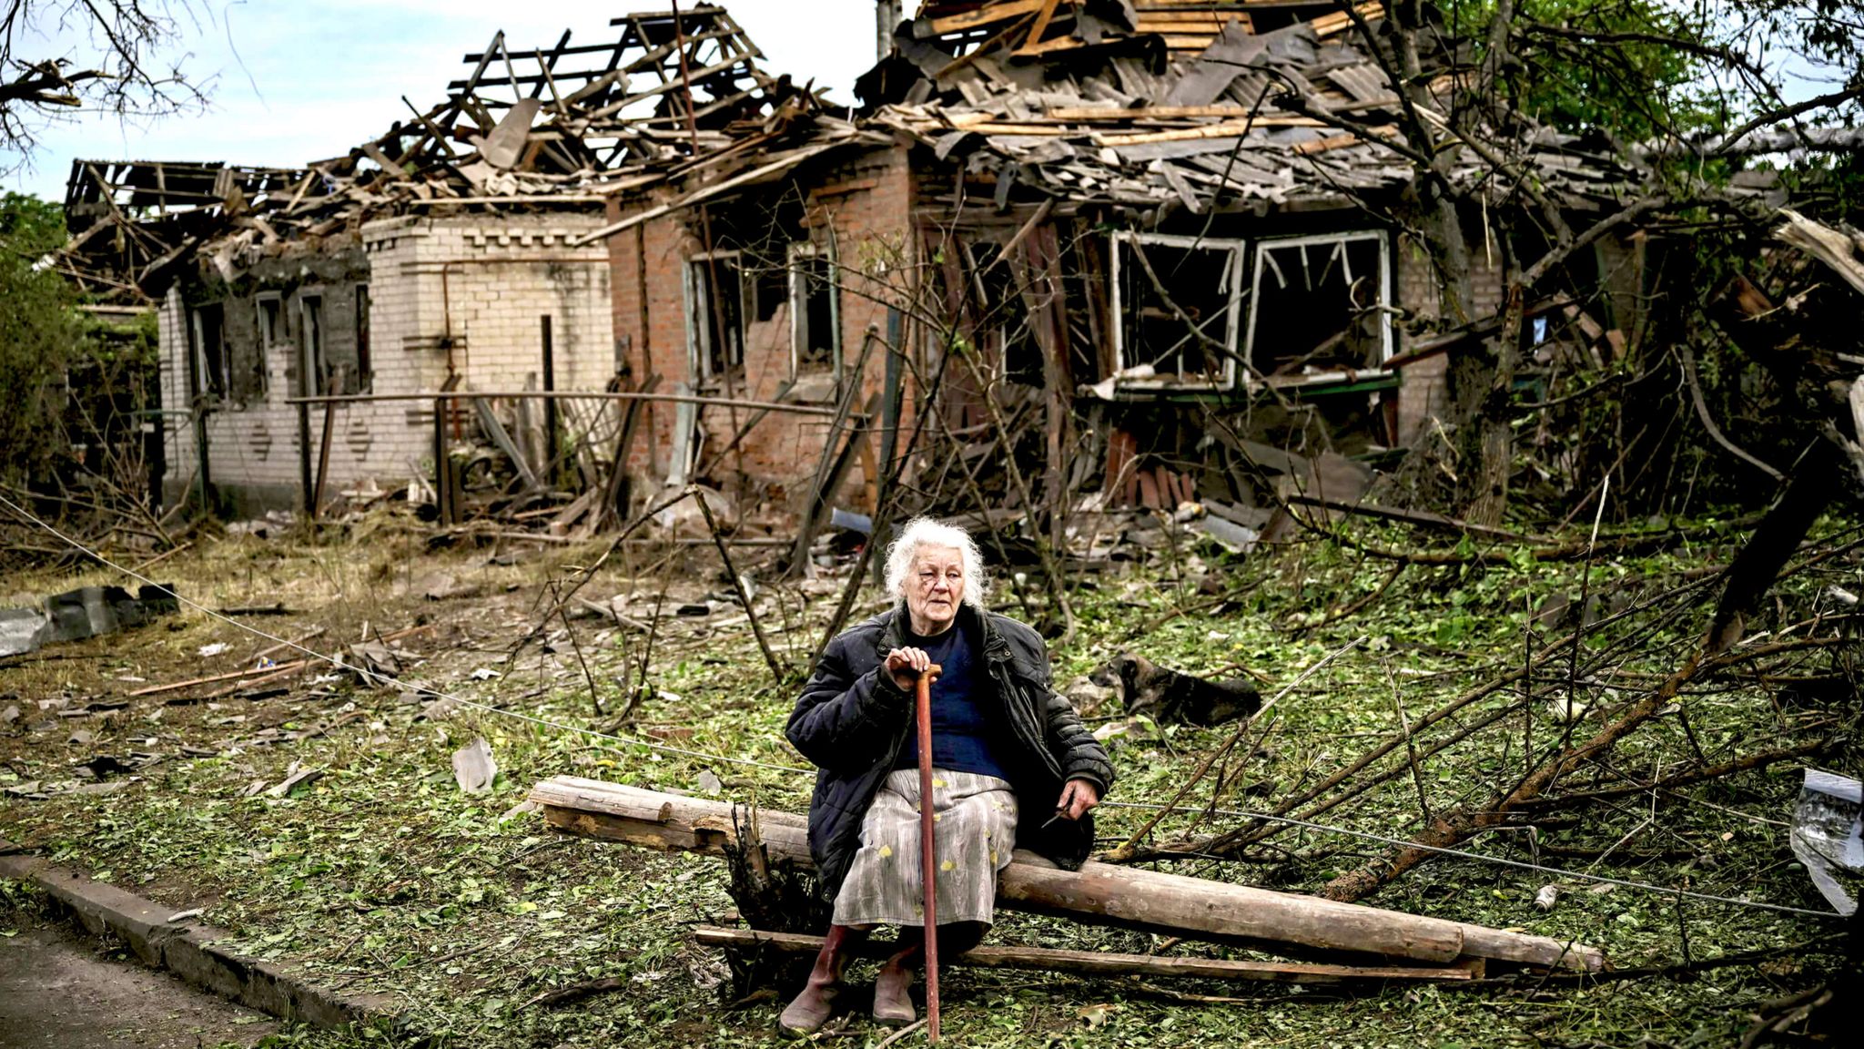
[[[682,4],[682,9],[686,4]],[[665,0],[201,0],[162,54],[211,90],[207,112],[121,121],[78,110],[43,129],[28,164],[0,174],[0,190],[63,200],[71,161],[227,161],[302,166],[349,153],[445,99],[468,73],[462,58],[505,30],[513,50],[615,39],[608,21],[665,9]],[[764,52],[759,63],[798,82],[815,77],[831,101],[854,103],[854,78],[874,63],[870,0],[729,0],[738,26]],[[82,34],[45,26],[48,39],[21,54],[93,54]],[[17,157],[0,157],[11,166]]]

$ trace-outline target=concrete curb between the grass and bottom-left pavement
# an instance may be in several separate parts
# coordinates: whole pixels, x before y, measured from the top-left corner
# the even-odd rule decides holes
[[[317,986],[302,965],[265,961],[216,946],[216,941],[233,933],[194,922],[170,924],[173,907],[37,857],[6,855],[4,842],[0,877],[43,888],[58,909],[75,916],[91,935],[110,933],[147,965],[242,1006],[326,1028],[399,1027],[399,1010],[386,995],[341,995]]]

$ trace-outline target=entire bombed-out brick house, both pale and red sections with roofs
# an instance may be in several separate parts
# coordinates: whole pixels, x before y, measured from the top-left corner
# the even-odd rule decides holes
[[[1404,446],[1445,409],[1426,349],[1454,325],[1391,218],[1417,172],[1387,146],[1379,13],[882,2],[859,110],[762,73],[721,7],[500,35],[347,157],[173,198],[192,231],[114,271],[160,287],[164,396],[190,407],[170,487],[585,491],[593,526],[703,480],[807,530],[872,510],[919,429],[962,465],[921,442],[921,502],[982,485],[1008,513],[1092,487],[1171,506],[1266,446]],[[1446,93],[1454,50],[1426,69]],[[1575,213],[1635,177],[1553,131],[1514,164]],[[123,243],[129,215],[75,243]],[[1471,254],[1482,314],[1501,271]],[[1599,246],[1609,308],[1635,308],[1629,258]],[[617,399],[432,396],[524,390]],[[1003,448],[1016,483],[979,469]]]

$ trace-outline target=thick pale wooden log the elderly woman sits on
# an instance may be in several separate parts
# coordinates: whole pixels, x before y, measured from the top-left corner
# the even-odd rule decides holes
[[[706,855],[723,855],[723,846],[736,842],[733,804],[725,801],[578,776],[539,782],[531,801],[554,829],[569,834]],[[757,823],[772,859],[809,862],[809,829],[802,816],[759,810]],[[1596,948],[1551,937],[1102,862],[1070,872],[1025,851],[1018,851],[999,875],[997,905],[1178,935],[1433,963],[1484,958],[1583,972],[1605,965]]]

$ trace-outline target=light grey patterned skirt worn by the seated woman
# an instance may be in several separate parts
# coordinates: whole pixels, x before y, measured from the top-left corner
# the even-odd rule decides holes
[[[938,924],[990,924],[997,872],[1016,847],[1016,791],[997,776],[932,769]],[[923,926],[919,769],[889,773],[861,819],[861,849],[835,896],[837,926]]]

